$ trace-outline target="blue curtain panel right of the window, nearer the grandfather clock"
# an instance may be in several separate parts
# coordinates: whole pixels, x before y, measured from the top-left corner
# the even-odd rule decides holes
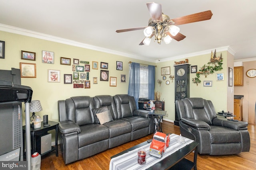
[[[148,99],[154,100],[155,98],[155,76],[156,67],[148,66]]]

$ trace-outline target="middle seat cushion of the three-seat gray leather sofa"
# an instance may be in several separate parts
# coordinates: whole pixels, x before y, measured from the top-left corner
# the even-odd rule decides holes
[[[132,131],[132,125],[128,121],[120,119],[114,119],[114,121],[104,123],[104,126],[109,129],[109,138],[130,133]]]

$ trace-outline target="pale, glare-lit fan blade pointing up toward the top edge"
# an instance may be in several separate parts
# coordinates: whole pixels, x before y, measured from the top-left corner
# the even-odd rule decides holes
[[[149,14],[152,20],[162,21],[162,5],[154,2],[147,3]]]

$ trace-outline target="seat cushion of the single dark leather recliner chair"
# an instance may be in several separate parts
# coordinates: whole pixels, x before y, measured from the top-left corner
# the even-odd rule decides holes
[[[210,143],[240,143],[241,135],[239,131],[228,127],[210,126]]]

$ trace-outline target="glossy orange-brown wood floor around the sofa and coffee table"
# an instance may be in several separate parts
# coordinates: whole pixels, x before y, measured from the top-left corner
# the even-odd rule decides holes
[[[175,133],[180,135],[180,129],[173,123],[164,121],[162,123],[164,133]],[[198,170],[256,170],[256,125],[248,125],[250,133],[251,147],[250,152],[242,152],[240,154],[225,156],[209,156],[198,154],[197,169]],[[108,170],[110,157],[119,152],[129,149],[134,145],[138,145],[151,139],[152,135],[148,135],[136,141],[131,141],[124,145],[108,149],[104,152],[91,156],[89,158],[64,164],[60,146],[58,146],[59,156],[56,157],[55,152],[50,152],[42,156],[41,170]],[[99,146],[100,147],[100,146]],[[194,153],[189,154],[186,158],[193,161]]]

